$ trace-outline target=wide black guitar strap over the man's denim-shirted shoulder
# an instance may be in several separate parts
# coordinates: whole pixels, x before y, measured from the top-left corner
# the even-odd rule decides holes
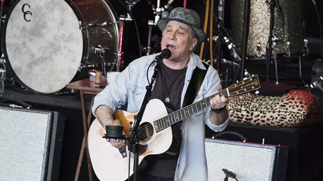
[[[201,88],[201,85],[203,83],[205,75],[207,74],[208,66],[209,66],[207,63],[204,63],[204,62],[202,63],[207,69],[203,70],[198,67],[194,69],[191,80],[189,81],[189,84],[185,93],[182,108],[184,108],[185,106],[191,105],[193,103],[195,97],[197,96],[197,92],[199,92]]]

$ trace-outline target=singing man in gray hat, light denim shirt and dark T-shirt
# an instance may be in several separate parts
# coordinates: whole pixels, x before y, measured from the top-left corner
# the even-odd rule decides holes
[[[178,7],[171,11],[168,18],[160,19],[157,25],[162,31],[161,49],[168,48],[171,57],[160,62],[151,99],[160,99],[173,111],[183,108],[185,93],[196,68],[207,72],[195,102],[221,91],[218,72],[211,66],[205,66],[193,53],[196,45],[206,39],[205,32],[200,28],[199,15],[193,10]],[[115,110],[126,103],[128,112],[140,109],[148,85],[146,71],[157,55],[134,60],[95,97],[92,112],[103,126],[111,125]],[[148,70],[149,81],[155,66]],[[156,156],[144,181],[208,181],[204,126],[207,124],[215,132],[223,131],[229,120],[227,104],[225,96],[216,95],[210,100],[210,107],[185,118],[181,124],[173,125],[173,136],[182,141],[180,153]],[[115,148],[127,146],[127,143],[111,144]]]

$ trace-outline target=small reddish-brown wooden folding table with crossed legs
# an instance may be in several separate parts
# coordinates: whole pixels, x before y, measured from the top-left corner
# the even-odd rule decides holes
[[[81,104],[82,104],[84,137],[83,137],[83,143],[82,143],[82,147],[81,147],[81,151],[80,151],[80,156],[78,158],[78,164],[77,164],[77,168],[76,168],[74,181],[78,180],[85,148],[86,148],[87,163],[88,163],[88,170],[89,170],[89,181],[92,181],[92,165],[91,165],[89,149],[88,149],[88,129],[89,129],[90,123],[91,123],[92,106],[93,106],[93,102],[94,102],[94,97],[96,94],[98,94],[100,91],[102,91],[107,85],[108,84],[106,82],[102,82],[101,86],[99,88],[96,88],[96,87],[94,87],[94,82],[90,81],[90,79],[84,79],[84,80],[79,80],[76,82],[69,83],[66,86],[67,89],[73,89],[73,90],[80,91]],[[86,118],[86,103],[85,103],[85,96],[84,96],[85,94],[92,94],[88,118]]]

